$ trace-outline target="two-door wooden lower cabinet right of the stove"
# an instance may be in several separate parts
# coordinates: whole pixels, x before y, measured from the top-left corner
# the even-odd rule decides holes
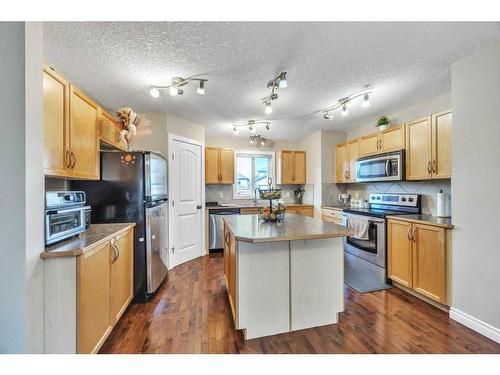
[[[388,220],[388,277],[446,305],[450,229]]]

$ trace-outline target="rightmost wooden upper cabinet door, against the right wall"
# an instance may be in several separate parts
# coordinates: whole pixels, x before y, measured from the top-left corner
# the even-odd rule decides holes
[[[432,178],[451,177],[451,111],[432,116]]]

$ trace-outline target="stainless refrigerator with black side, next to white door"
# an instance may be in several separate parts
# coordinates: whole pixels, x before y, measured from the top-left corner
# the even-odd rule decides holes
[[[167,275],[167,161],[149,151],[101,151],[101,180],[72,181],[85,191],[92,223],[136,223],[134,300],[147,301]]]

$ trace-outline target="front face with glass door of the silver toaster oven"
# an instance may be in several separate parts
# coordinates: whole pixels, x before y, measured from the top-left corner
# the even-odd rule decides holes
[[[45,212],[45,244],[77,235],[85,231],[85,207]]]

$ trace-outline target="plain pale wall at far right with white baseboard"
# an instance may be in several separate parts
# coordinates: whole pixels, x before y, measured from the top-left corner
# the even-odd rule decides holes
[[[450,316],[500,342],[500,43],[452,66]]]

